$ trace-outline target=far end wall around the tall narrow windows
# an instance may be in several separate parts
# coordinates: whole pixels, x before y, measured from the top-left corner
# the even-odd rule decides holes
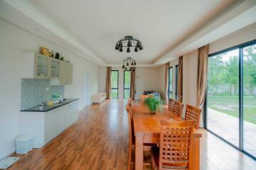
[[[118,98],[124,95],[124,69],[112,67],[112,70],[119,71]],[[106,67],[100,67],[99,91],[106,91]],[[135,74],[136,95],[139,98],[144,91],[160,92],[159,69],[156,67],[137,67]]]

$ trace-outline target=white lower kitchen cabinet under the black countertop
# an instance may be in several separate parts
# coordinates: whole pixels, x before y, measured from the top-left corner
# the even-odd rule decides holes
[[[78,101],[48,112],[21,112],[19,134],[33,136],[33,147],[40,148],[76,120],[78,120]]]

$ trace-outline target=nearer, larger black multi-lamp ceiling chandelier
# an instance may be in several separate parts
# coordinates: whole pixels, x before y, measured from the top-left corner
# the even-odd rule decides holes
[[[134,47],[134,52],[143,50],[142,42],[137,39],[134,39],[132,36],[126,36],[123,39],[117,41],[117,44],[114,49],[119,50],[119,52],[122,52],[122,47],[127,47],[127,52],[131,52],[130,47]]]

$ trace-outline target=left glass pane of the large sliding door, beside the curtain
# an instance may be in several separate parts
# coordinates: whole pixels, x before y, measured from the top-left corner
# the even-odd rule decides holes
[[[239,50],[208,59],[208,130],[239,147]]]

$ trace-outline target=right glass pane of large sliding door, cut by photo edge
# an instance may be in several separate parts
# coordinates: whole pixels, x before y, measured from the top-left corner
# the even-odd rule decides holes
[[[244,47],[243,54],[243,149],[256,157],[256,45]]]

